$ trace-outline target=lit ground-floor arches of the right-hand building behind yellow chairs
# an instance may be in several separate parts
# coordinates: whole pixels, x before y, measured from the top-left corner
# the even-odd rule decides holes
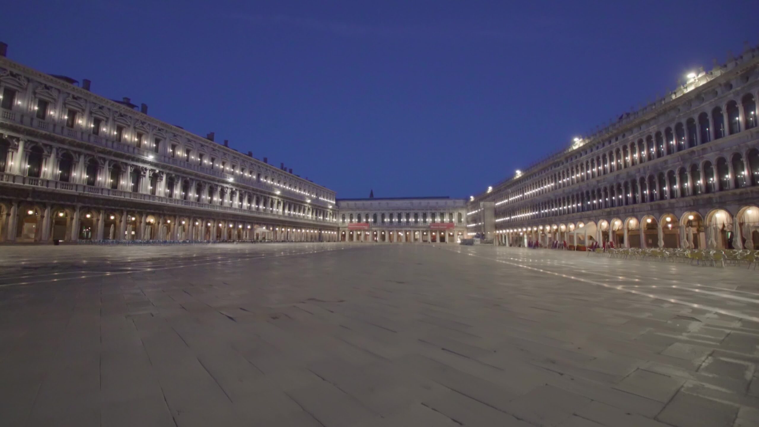
[[[524,222],[496,230],[496,244],[528,247],[759,249],[759,207],[739,204],[568,222]]]

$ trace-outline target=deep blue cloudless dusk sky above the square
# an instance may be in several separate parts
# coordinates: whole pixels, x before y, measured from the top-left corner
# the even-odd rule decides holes
[[[9,58],[90,78],[343,198],[483,191],[759,42],[755,0],[67,0],[2,13]]]

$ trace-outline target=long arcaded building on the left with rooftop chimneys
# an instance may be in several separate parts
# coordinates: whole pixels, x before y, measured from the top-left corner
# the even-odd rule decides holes
[[[0,56],[0,242],[337,240],[335,191],[89,89]]]

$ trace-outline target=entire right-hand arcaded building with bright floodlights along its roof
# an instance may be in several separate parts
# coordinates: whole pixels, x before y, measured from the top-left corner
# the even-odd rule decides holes
[[[501,245],[759,248],[759,49],[472,196]]]

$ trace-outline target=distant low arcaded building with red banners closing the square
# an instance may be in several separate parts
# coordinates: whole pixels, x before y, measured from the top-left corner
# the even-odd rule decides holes
[[[465,199],[338,199],[339,239],[367,243],[455,243],[466,233]]]

